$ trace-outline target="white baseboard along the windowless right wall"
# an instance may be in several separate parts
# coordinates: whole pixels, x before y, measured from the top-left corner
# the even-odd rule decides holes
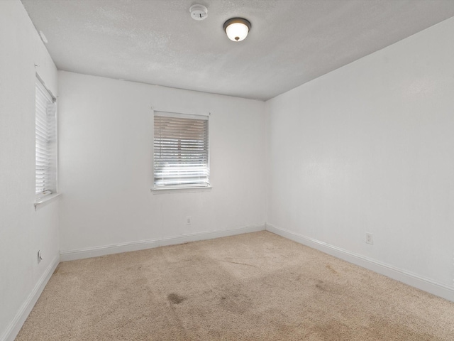
[[[378,274],[393,278],[397,281],[401,281],[402,283],[406,283],[409,286],[414,286],[415,288],[427,291],[428,293],[433,293],[433,295],[440,296],[448,301],[454,302],[454,287],[446,286],[443,283],[437,283],[429,278],[423,278],[422,276],[412,274],[409,271],[399,269],[389,264],[381,263],[375,259],[370,259],[339,247],[334,247],[333,245],[320,242],[319,240],[304,237],[285,229],[280,229],[272,224],[265,224],[265,228],[267,231],[278,234],[281,237],[291,239],[294,242],[304,244],[326,254],[331,254],[331,256],[335,256],[339,259],[343,259],[344,261],[348,261],[349,263],[362,266],[365,269],[375,271]]]

